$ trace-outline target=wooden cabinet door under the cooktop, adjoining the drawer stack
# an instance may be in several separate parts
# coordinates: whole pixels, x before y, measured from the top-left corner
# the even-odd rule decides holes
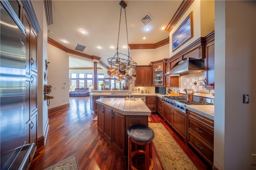
[[[182,113],[181,111],[172,108],[173,115],[173,123],[172,128],[180,134],[180,136],[184,139],[185,143],[187,143],[187,115],[186,113]]]

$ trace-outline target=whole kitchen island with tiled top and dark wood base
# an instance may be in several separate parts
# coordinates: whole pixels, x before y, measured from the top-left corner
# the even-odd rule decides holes
[[[127,129],[135,124],[148,125],[150,109],[140,98],[100,98],[98,132],[123,160],[128,156]]]

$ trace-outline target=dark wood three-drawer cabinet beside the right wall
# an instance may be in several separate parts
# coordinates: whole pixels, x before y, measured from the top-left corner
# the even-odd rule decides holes
[[[214,121],[193,111],[188,111],[188,144],[212,166]]]

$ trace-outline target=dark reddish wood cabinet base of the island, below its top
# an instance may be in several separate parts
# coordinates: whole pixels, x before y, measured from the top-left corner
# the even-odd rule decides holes
[[[127,129],[136,124],[148,125],[148,115],[123,115],[98,104],[98,132],[124,162],[128,158]]]

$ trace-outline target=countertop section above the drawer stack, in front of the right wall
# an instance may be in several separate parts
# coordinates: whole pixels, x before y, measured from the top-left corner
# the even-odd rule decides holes
[[[214,105],[186,105],[186,109],[214,120]]]

